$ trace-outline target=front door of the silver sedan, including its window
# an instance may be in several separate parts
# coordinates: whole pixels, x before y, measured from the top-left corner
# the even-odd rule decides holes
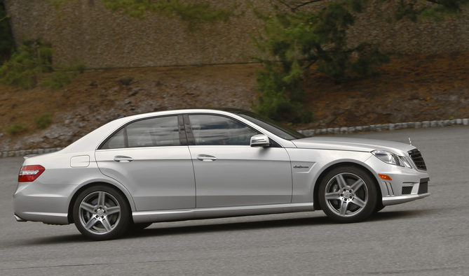
[[[292,170],[283,147],[250,147],[259,132],[229,117],[189,115],[189,121],[197,208],[291,203]]]

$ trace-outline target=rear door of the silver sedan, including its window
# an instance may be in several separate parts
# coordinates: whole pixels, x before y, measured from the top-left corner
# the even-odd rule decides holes
[[[138,120],[118,130],[95,152],[101,172],[127,187],[137,211],[196,207],[183,127],[177,115]]]

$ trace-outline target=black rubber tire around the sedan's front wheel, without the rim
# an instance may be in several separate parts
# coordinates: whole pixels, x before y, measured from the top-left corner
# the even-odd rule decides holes
[[[365,205],[365,208],[363,208],[363,210],[361,210],[358,214],[351,217],[341,217],[340,215],[337,215],[336,212],[329,209],[329,205],[327,205],[325,200],[325,189],[327,183],[332,179],[332,177],[335,177],[339,173],[353,173],[354,175],[358,175],[358,177],[360,177],[365,182],[365,185],[368,189],[368,201]],[[322,178],[318,193],[318,199],[322,211],[325,212],[327,217],[339,223],[353,223],[367,219],[367,217],[369,217],[369,215],[371,215],[375,210],[377,202],[376,184],[374,184],[372,177],[370,177],[370,175],[362,168],[355,166],[341,166],[329,171],[329,173],[327,173],[325,177]]]

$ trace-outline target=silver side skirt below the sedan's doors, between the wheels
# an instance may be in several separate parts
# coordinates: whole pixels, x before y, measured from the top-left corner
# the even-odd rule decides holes
[[[311,211],[314,211],[313,203],[287,203],[132,212],[132,218],[135,223],[144,223],[157,221],[180,221],[189,219],[210,219],[220,217],[240,217],[252,215],[281,214],[285,212]]]

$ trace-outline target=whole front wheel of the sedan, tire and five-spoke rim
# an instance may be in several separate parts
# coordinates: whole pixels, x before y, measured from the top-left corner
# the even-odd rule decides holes
[[[342,166],[322,179],[318,198],[327,217],[339,223],[352,223],[372,214],[376,195],[376,186],[365,170]]]

